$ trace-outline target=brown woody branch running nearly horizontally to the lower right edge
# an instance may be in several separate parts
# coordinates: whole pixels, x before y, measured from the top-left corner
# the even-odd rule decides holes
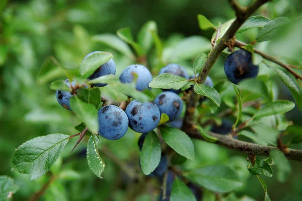
[[[187,135],[191,138],[203,140],[203,137],[200,135],[199,131],[197,129],[183,129],[184,132],[187,133]],[[217,133],[208,132],[209,135],[212,137],[215,137],[218,139],[215,144],[224,146],[226,148],[229,148],[231,150],[243,152],[250,155],[255,156],[269,156],[269,152],[278,149],[277,147],[272,146],[265,146],[265,145],[257,145],[254,143],[248,143],[239,141],[236,139],[231,138],[228,135],[219,135]],[[295,149],[288,149],[288,153],[285,154],[287,159],[294,160],[294,161],[302,161],[302,150],[295,150]]]

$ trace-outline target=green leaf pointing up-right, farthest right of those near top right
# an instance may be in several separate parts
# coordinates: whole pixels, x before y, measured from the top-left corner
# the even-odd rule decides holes
[[[275,35],[279,34],[283,25],[289,23],[289,19],[285,17],[276,18],[273,21],[268,22],[258,32],[256,37],[257,42],[263,42],[272,39]]]

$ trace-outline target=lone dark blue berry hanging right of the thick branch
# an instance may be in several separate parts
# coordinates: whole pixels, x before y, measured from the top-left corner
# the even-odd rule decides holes
[[[226,57],[224,62],[224,73],[234,84],[247,78],[256,78],[259,66],[254,65],[252,53],[245,49],[237,50]]]

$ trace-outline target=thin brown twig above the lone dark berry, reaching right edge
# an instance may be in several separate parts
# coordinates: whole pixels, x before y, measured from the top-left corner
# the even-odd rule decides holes
[[[234,45],[235,45],[236,47],[243,48],[243,47],[245,47],[247,44],[244,43],[244,42],[241,42],[241,41],[239,41],[239,40],[236,40],[235,43],[234,43]],[[264,53],[264,52],[262,52],[262,51],[259,51],[258,49],[255,49],[255,48],[254,48],[254,52],[256,52],[257,54],[260,54],[263,58],[265,58],[265,59],[267,59],[267,60],[269,60],[269,61],[272,61],[272,62],[274,62],[274,63],[280,65],[281,67],[283,67],[284,69],[286,69],[289,73],[291,73],[296,79],[302,80],[302,76],[300,76],[299,74],[297,74],[295,71],[293,71],[293,70],[291,69],[291,68],[293,68],[292,65],[288,65],[288,64],[286,64],[286,63],[283,63],[282,61],[280,61],[280,60],[277,59],[276,57],[271,56],[271,55],[268,55],[268,54],[266,54],[266,53]],[[296,67],[296,66],[295,66],[295,67]]]

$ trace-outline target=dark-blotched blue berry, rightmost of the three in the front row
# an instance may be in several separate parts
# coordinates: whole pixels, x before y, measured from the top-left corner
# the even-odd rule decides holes
[[[156,97],[154,102],[159,107],[161,114],[166,113],[169,116],[169,121],[177,119],[181,115],[183,102],[174,92],[163,92]]]

